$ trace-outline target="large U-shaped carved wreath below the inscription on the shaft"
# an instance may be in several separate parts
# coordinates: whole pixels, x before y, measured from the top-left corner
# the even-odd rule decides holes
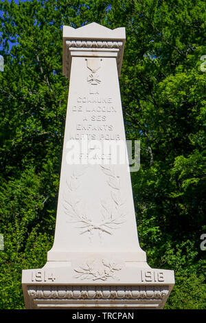
[[[89,233],[90,237],[93,235],[94,230],[98,230],[100,238],[102,233],[113,234],[113,230],[117,229],[119,225],[125,222],[125,212],[122,208],[125,201],[122,199],[120,192],[120,179],[119,176],[115,175],[115,172],[109,166],[102,166],[102,171],[108,176],[108,186],[111,190],[111,199],[113,205],[101,200],[102,205],[102,219],[95,222],[90,216],[85,214],[85,207],[82,205],[81,199],[72,197],[71,200],[65,199],[63,204],[65,213],[69,216],[70,223],[78,223],[78,228],[83,229],[80,234]],[[85,169],[84,169],[85,170]],[[80,177],[84,175],[84,170],[74,171],[71,175],[70,181],[67,181],[67,188],[69,192],[76,192],[80,186]],[[84,230],[85,229],[85,230]]]

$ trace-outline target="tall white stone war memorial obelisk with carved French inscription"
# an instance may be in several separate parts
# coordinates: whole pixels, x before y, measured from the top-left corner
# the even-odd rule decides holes
[[[56,230],[46,265],[23,270],[26,309],[162,309],[174,285],[174,272],[152,269],[139,247],[128,159],[102,151],[126,143],[125,39],[123,27],[63,27],[70,84]]]

